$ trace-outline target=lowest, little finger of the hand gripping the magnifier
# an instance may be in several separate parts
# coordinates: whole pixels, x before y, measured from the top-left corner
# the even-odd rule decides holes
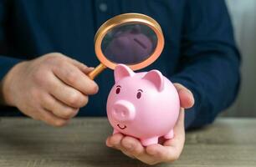
[[[67,119],[60,119],[54,114],[50,113],[47,109],[40,109],[38,112],[40,114],[39,119],[44,121],[46,124],[61,127],[69,123]]]

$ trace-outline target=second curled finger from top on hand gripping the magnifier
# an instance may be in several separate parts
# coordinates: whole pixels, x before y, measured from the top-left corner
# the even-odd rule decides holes
[[[59,78],[53,76],[50,81],[47,83],[47,88],[49,89],[49,94],[53,95],[55,99],[75,109],[84,107],[88,103],[87,96],[64,84]]]

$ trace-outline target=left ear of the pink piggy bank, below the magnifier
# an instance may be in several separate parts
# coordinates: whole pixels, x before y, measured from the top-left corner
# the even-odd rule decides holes
[[[134,75],[134,72],[131,70],[131,68],[125,66],[124,64],[118,64],[115,67],[115,71],[114,71],[115,83],[122,78],[131,77],[132,75]]]

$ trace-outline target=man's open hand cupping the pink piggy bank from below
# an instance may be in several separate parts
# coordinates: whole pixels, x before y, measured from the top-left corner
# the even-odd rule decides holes
[[[123,134],[114,134],[106,139],[106,145],[120,149],[131,158],[140,159],[146,164],[172,162],[179,158],[185,143],[184,109],[191,108],[194,99],[191,91],[182,84],[174,83],[181,101],[181,110],[177,124],[174,127],[173,139],[161,139],[160,144],[143,147],[138,139]]]

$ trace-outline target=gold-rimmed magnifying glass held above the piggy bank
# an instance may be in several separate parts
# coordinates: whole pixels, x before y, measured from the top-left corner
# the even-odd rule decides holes
[[[160,25],[141,13],[125,13],[110,18],[95,34],[95,53],[100,60],[89,77],[94,79],[105,68],[123,63],[132,70],[153,63],[164,47]]]

